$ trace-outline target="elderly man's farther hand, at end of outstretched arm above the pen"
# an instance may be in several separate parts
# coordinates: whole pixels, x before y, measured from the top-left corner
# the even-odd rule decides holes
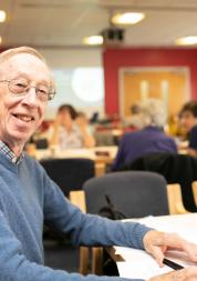
[[[183,251],[187,254],[188,260],[197,262],[197,245],[184,240],[178,234],[151,230],[144,235],[143,243],[146,252],[156,259],[159,267],[164,265],[163,259],[167,250]]]

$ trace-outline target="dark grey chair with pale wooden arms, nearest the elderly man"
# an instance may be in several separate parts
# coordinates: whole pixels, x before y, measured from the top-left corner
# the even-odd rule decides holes
[[[71,192],[70,199],[84,212],[98,214],[106,205],[105,195],[127,218],[185,211],[179,185],[167,187],[164,177],[153,172],[126,171],[93,178],[84,183],[83,191]],[[87,273],[87,248],[82,247],[80,272],[83,274]],[[92,249],[92,272],[102,273],[102,248]]]

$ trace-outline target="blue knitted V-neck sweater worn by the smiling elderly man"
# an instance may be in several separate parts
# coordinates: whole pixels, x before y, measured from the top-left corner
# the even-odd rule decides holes
[[[65,171],[66,172],[66,171]],[[70,233],[74,244],[143,248],[149,230],[83,214],[66,200],[43,168],[27,154],[14,164],[0,154],[0,281],[120,281],[83,277],[44,265],[42,231],[48,224]]]

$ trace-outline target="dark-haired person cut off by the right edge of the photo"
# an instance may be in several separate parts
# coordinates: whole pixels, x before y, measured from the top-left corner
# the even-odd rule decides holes
[[[180,124],[188,134],[187,154],[197,157],[197,101],[187,102],[180,110]]]

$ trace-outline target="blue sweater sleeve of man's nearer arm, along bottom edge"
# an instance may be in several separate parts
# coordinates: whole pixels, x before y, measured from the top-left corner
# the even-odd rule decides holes
[[[9,222],[0,211],[0,280],[2,281],[121,281],[118,277],[83,277],[62,270],[37,264],[22,253],[20,241],[13,234]],[[133,280],[137,281],[137,280]],[[139,281],[139,280],[138,280]],[[143,280],[141,280],[143,281]]]

